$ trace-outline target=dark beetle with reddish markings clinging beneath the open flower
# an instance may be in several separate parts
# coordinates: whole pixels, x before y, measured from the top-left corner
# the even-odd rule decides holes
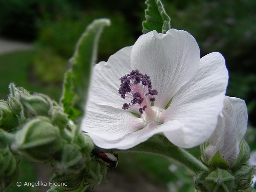
[[[112,171],[116,168],[118,164],[118,154],[115,154],[113,152],[103,151],[99,148],[94,148],[91,151],[91,156],[95,156],[96,158],[100,158],[106,163],[109,163],[107,167],[112,169]]]

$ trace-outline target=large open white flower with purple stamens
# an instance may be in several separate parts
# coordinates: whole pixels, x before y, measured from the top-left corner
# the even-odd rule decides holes
[[[134,77],[140,77],[138,84],[132,70],[141,74]],[[129,93],[120,90],[125,76],[131,82]],[[227,80],[222,55],[213,52],[200,59],[198,44],[188,32],[148,32],[93,68],[81,128],[101,148],[131,148],[159,133],[177,146],[192,148],[214,131]]]

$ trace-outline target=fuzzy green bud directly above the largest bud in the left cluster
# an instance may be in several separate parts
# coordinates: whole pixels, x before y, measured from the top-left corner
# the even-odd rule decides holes
[[[48,111],[52,107],[49,98],[42,94],[34,94],[31,96],[21,96],[20,102],[23,105],[23,113],[28,117],[48,116]]]

